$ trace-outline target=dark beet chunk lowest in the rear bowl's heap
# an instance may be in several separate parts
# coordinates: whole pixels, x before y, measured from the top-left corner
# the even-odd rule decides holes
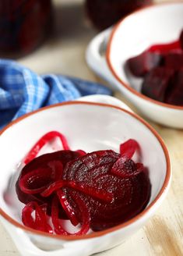
[[[157,101],[164,101],[167,87],[174,76],[174,69],[157,67],[150,70],[143,80],[142,93]]]

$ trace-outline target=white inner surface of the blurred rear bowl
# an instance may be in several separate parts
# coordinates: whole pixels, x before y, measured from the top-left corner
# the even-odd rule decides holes
[[[108,62],[118,78],[136,91],[142,80],[125,69],[125,62],[153,44],[178,40],[183,29],[183,2],[152,5],[127,16],[114,28]]]

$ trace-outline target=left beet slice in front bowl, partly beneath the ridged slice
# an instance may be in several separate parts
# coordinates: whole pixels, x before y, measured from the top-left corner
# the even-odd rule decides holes
[[[63,168],[65,168],[67,162],[75,158],[78,158],[79,155],[80,153],[76,151],[57,151],[54,153],[40,155],[39,157],[33,159],[31,162],[25,165],[25,167],[20,172],[19,179],[16,182],[16,194],[19,198],[19,201],[23,202],[24,204],[27,204],[31,201],[36,201],[38,204],[48,203],[48,214],[50,215],[50,205],[52,196],[42,197],[40,193],[30,194],[31,190],[32,192],[35,192],[35,190],[38,189],[38,187],[41,187],[42,191],[45,189],[45,187],[48,187],[52,182],[59,180],[62,177],[62,169],[59,168],[60,164],[58,164],[58,162],[61,162]],[[29,179],[31,180],[31,172],[33,174],[33,172],[37,169],[44,170],[44,176],[42,171],[36,171],[37,177],[36,179],[33,180],[34,183],[31,184],[29,187]],[[26,178],[29,178],[28,183],[26,183]],[[20,189],[19,184],[22,184],[20,186],[24,186],[26,184],[26,187],[24,186],[24,188],[27,189],[27,191],[24,190],[23,192],[23,190]],[[25,191],[28,192],[29,194],[25,193]],[[62,208],[60,208],[60,215],[64,219],[66,218],[65,212]]]

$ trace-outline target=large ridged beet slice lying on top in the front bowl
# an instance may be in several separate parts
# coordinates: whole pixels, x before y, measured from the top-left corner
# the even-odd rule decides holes
[[[111,172],[120,157],[114,151],[95,151],[69,162],[63,171],[64,180],[75,180],[87,187],[114,194],[114,200],[107,203],[72,188],[63,188],[80,222],[82,217],[74,198],[77,196],[82,198],[90,212],[90,227],[94,231],[125,222],[141,212],[149,200],[150,181],[145,172],[139,172],[138,175],[135,173],[137,168],[132,160],[129,160],[125,166],[126,172],[130,169],[130,178],[127,175],[128,178],[121,179],[121,176]]]

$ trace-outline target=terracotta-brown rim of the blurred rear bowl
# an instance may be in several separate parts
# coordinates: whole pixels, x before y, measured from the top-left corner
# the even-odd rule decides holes
[[[155,105],[160,105],[161,107],[165,107],[165,108],[171,108],[171,109],[177,109],[177,110],[183,110],[183,106],[179,106],[179,105],[171,105],[171,104],[167,104],[161,101],[156,101],[153,98],[149,98],[146,95],[141,94],[140,92],[136,91],[135,89],[133,89],[130,84],[125,83],[124,80],[122,80],[119,76],[118,73],[115,71],[114,66],[112,65],[111,62],[111,45],[113,42],[113,38],[114,38],[114,34],[117,32],[117,30],[121,27],[121,24],[124,23],[124,21],[128,18],[130,18],[131,16],[133,16],[136,13],[140,13],[143,12],[146,9],[154,9],[157,8],[159,6],[164,6],[164,5],[177,5],[177,4],[182,4],[183,2],[182,0],[175,0],[174,2],[160,2],[160,3],[153,3],[150,5],[147,5],[145,7],[139,8],[136,11],[132,12],[131,14],[125,16],[124,18],[122,18],[112,29],[111,31],[111,35],[109,37],[108,43],[107,43],[107,49],[106,49],[106,60],[107,60],[107,66],[109,67],[109,69],[111,70],[112,75],[118,80],[118,82],[121,84],[122,87],[125,87],[125,89],[127,89],[129,92],[131,92],[132,94],[135,94],[135,96],[142,98],[143,100],[146,101],[150,101],[151,103],[155,104]]]

